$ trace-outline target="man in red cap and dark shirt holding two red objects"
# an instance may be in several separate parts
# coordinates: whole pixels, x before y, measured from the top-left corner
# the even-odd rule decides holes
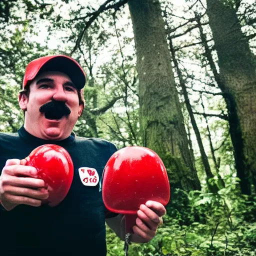
[[[77,137],[72,128],[81,115],[86,77],[80,65],[64,55],[31,61],[24,74],[18,101],[24,125],[15,134],[0,134],[0,253],[1,255],[106,255],[105,221],[124,238],[124,218],[107,212],[100,180],[86,186],[79,168],[94,168],[101,177],[116,147],[105,140]],[[42,204],[48,191],[36,169],[23,165],[35,147],[51,143],[64,147],[74,164],[71,187],[55,207]],[[133,242],[155,235],[162,204],[140,205]]]

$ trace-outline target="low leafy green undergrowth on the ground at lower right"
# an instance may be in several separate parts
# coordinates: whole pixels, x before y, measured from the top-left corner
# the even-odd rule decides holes
[[[237,183],[227,176],[226,187],[217,194],[173,191],[156,236],[145,244],[131,244],[129,256],[255,255],[256,196],[241,195]],[[108,256],[124,255],[123,242],[112,232],[107,232],[107,241]]]

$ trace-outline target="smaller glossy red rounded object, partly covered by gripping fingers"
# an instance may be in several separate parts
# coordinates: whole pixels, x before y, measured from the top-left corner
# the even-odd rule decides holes
[[[43,203],[56,206],[66,196],[73,179],[73,162],[61,146],[45,144],[36,147],[25,158],[26,165],[38,171],[38,177],[48,186],[49,197]]]

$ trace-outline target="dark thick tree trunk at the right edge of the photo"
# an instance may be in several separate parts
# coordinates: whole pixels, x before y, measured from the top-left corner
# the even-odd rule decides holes
[[[219,84],[228,109],[237,177],[241,191],[256,187],[256,72],[236,10],[223,0],[207,0],[207,14],[218,55]]]

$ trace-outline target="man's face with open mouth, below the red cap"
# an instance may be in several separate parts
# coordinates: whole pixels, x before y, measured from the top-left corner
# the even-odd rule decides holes
[[[50,140],[67,138],[80,116],[83,105],[79,105],[77,90],[68,75],[57,71],[46,71],[36,76],[30,84],[29,97],[22,94],[19,106],[25,111],[24,128],[32,135]],[[39,109],[51,101],[61,101],[70,109],[69,115],[48,116]],[[57,102],[58,103],[58,102]],[[49,111],[52,114],[54,108]]]

